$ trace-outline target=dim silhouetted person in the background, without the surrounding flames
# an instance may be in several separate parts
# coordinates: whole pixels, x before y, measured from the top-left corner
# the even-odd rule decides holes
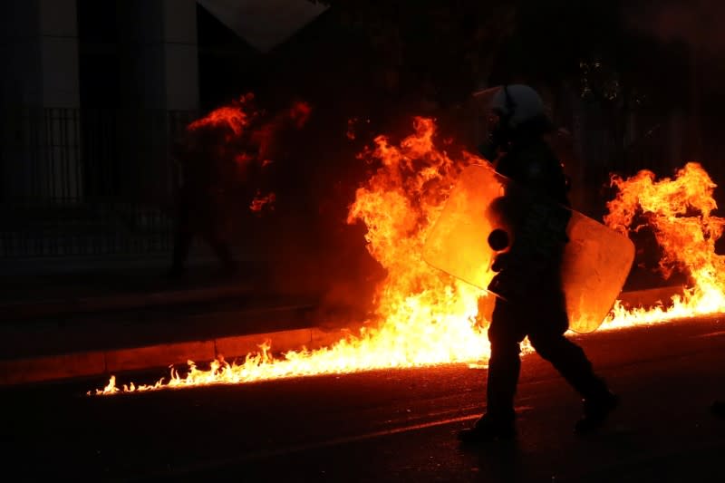
[[[176,193],[176,226],[170,276],[186,271],[189,249],[195,237],[203,239],[221,263],[224,275],[237,272],[229,246],[229,210],[238,209],[237,167],[223,136],[214,127],[188,130],[176,144],[179,163]]]

